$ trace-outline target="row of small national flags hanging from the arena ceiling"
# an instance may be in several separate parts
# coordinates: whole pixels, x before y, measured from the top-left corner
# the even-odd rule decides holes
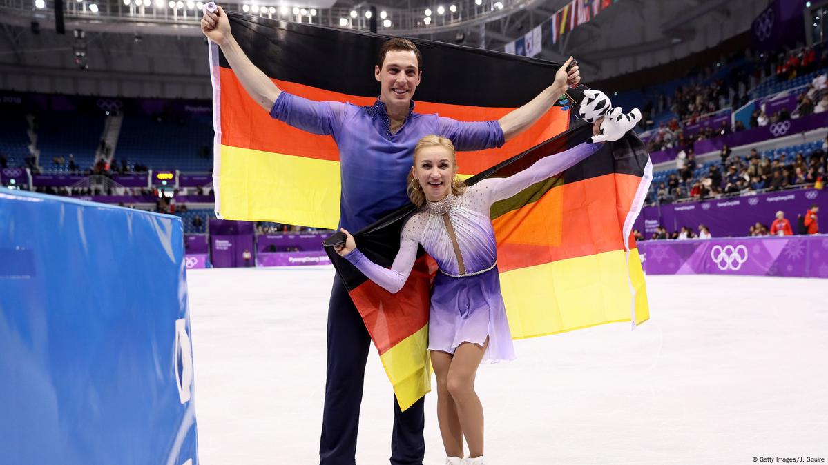
[[[590,22],[600,12],[619,0],[572,0],[549,18],[551,43],[556,43],[561,36],[575,27]],[[535,56],[542,50],[541,25],[536,26],[525,36],[503,46],[503,51],[513,55]]]

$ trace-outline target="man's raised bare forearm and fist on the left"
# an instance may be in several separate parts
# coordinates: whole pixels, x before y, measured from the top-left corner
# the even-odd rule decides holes
[[[224,58],[233,68],[233,73],[242,83],[244,90],[250,94],[250,97],[256,103],[261,105],[267,112],[270,112],[273,103],[276,102],[282,91],[276,84],[273,84],[267,74],[262,73],[262,70],[253,65],[248,55],[245,55],[241,47],[238,46],[238,42],[230,32],[230,22],[222,7],[217,7],[214,12],[205,9],[204,17],[201,18],[201,31],[210,41],[214,41],[217,46],[221,47]]]

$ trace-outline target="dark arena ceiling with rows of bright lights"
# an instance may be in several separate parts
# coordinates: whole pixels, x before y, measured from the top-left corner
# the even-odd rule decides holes
[[[175,11],[174,17],[174,9],[168,7],[175,2],[165,5],[167,0],[108,0],[96,7],[99,12],[95,15],[83,9],[94,0],[69,0],[65,15],[67,33],[58,36],[51,9],[53,0],[46,0],[43,8],[35,7],[35,1],[42,0],[0,0],[0,70],[2,74],[11,73],[0,78],[2,89],[20,89],[23,85],[33,90],[32,82],[55,73],[60,75],[51,78],[53,81],[83,72],[97,73],[101,79],[106,75],[122,79],[123,74],[128,74],[143,82],[155,81],[161,75],[176,77],[171,80],[181,81],[181,85],[195,85],[190,78],[202,79],[206,75],[198,10],[188,9],[187,2],[181,2],[181,10]],[[276,12],[272,16],[278,17],[282,7],[286,7],[286,12],[301,7],[308,12],[306,17],[311,22],[334,26],[339,26],[353,11],[357,18],[349,19],[347,27],[354,28],[367,27],[363,14],[373,6],[378,12],[386,12],[393,22],[392,27],[381,25],[380,33],[419,36],[489,50],[503,50],[508,42],[542,25],[544,40],[538,58],[560,61],[575,55],[589,80],[667,63],[715,46],[747,31],[753,17],[767,6],[767,0],[618,0],[553,45],[548,40],[549,18],[567,3],[565,0],[500,0],[499,8],[493,7],[497,0],[480,0],[480,6],[475,0],[339,0],[331,7],[320,6],[330,0],[257,1],[257,8],[272,4],[271,12]],[[125,2],[136,2],[139,7],[132,3],[126,6]],[[140,2],[151,7],[144,9]],[[227,9],[239,12],[245,6],[249,11],[253,4],[253,0],[223,3]],[[451,4],[458,7],[454,17],[448,11],[445,17],[436,14],[437,7],[443,5],[447,10]],[[315,10],[313,17],[311,8]],[[421,22],[426,8],[433,10],[434,22],[428,26]],[[31,31],[32,22],[38,23],[39,34]],[[88,70],[79,71],[71,60],[75,29],[83,29],[90,44]],[[28,79],[30,74],[36,79]],[[63,87],[55,84],[52,89]],[[209,96],[209,89],[198,87],[193,91],[195,95]],[[133,90],[143,93],[137,88]],[[85,87],[75,85],[75,89],[86,93]],[[161,92],[159,96],[165,94]]]

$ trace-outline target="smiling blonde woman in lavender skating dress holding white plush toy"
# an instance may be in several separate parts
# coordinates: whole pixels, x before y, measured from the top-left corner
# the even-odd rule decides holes
[[[595,122],[601,139],[618,140],[640,118],[620,115]],[[445,137],[423,137],[414,149],[408,196],[419,209],[402,228],[400,249],[391,269],[369,261],[347,236],[336,248],[365,276],[390,292],[402,289],[421,244],[436,261],[429,310],[429,351],[437,379],[437,419],[446,463],[484,463],[483,406],[474,392],[474,377],[481,362],[515,357],[512,337],[500,294],[497,250],[489,217],[491,205],[508,199],[528,186],[561,173],[592,155],[599,144],[584,143],[537,161],[508,178],[482,180],[465,186],[458,180],[455,149]]]

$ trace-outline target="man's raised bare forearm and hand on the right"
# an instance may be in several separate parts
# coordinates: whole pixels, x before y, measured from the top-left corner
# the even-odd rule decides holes
[[[526,131],[544,113],[549,111],[549,108],[555,104],[557,99],[566,92],[568,85],[575,86],[580,83],[580,71],[578,70],[577,64],[573,65],[572,69],[568,72],[566,70],[566,67],[571,62],[572,57],[570,56],[569,60],[566,60],[566,63],[555,74],[555,82],[551,86],[544,89],[537,97],[532,98],[529,103],[514,109],[498,120],[500,127],[503,129],[503,137],[507,141],[517,136],[517,134]]]

